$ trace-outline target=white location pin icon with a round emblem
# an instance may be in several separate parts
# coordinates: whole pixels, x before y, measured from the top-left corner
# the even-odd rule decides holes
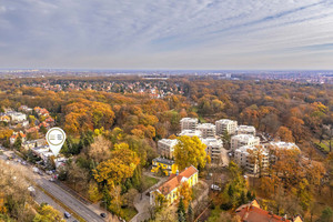
[[[61,128],[51,128],[47,133],[47,141],[52,153],[57,157],[65,141],[65,133]]]

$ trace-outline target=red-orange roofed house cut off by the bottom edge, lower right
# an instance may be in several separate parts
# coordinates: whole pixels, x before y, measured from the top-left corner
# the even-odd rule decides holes
[[[241,218],[241,222],[303,222],[302,218],[299,215],[293,219],[287,219],[286,215],[280,216],[265,211],[260,208],[256,200],[238,208],[235,214]]]

